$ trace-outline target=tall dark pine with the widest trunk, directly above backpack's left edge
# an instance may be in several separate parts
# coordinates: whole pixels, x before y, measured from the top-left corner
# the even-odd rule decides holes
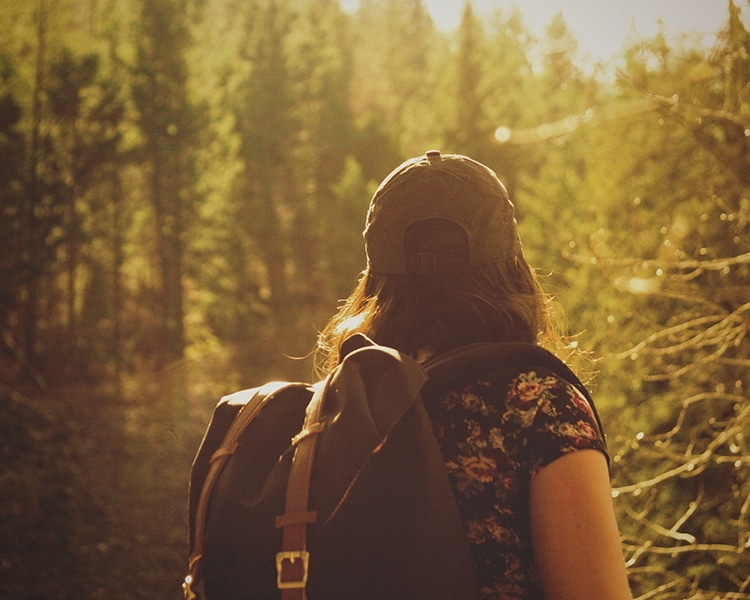
[[[184,244],[192,212],[192,144],[199,117],[186,88],[190,39],[183,3],[144,0],[139,10],[132,89],[143,139],[139,160],[154,219],[160,312],[156,323],[162,338],[158,359],[169,362],[180,359],[185,348]]]

